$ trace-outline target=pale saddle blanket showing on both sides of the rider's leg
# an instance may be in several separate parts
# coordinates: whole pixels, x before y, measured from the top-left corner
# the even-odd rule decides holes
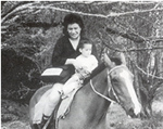
[[[75,93],[78,91],[78,89],[80,87],[82,86],[76,87],[70,94],[67,94],[63,98],[63,100],[61,101],[61,104],[59,106],[59,109],[57,112],[57,119],[64,118],[65,115],[67,115],[67,113],[70,111],[71,103],[75,96]],[[50,94],[50,92],[51,92],[51,89],[46,91],[46,93],[40,98],[38,103],[35,105],[35,114],[34,114],[34,118],[33,118],[33,124],[40,124],[41,122],[42,116],[43,116],[43,107],[45,107],[46,102],[47,102],[47,96],[48,96],[48,94]]]

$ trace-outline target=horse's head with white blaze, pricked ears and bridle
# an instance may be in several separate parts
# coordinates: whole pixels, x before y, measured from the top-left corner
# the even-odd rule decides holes
[[[120,59],[110,59],[104,54],[104,63],[108,67],[108,79],[111,83],[110,92],[114,101],[121,104],[130,117],[137,117],[141,112],[141,105],[134,89],[134,75],[126,66],[125,56],[120,54]],[[114,62],[113,62],[114,61]]]

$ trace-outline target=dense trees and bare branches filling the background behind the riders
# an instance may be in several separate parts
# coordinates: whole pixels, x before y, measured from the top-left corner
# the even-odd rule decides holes
[[[2,77],[2,81],[22,77],[24,80],[13,79],[16,82],[13,85],[21,86],[23,82],[32,88],[33,85],[25,82],[29,80],[28,77],[17,76],[15,73],[23,66],[22,73],[25,75],[30,75],[33,70],[40,75],[50,67],[54,43],[62,34],[63,17],[75,12],[84,18],[86,35],[96,43],[100,56],[104,49],[110,53],[125,53],[135,75],[137,93],[147,98],[147,102],[141,100],[143,103],[150,103],[153,95],[149,93],[154,93],[163,80],[162,8],[162,2],[2,2],[2,76],[8,75]],[[10,65],[3,63],[7,53]],[[22,62],[20,65],[13,60],[17,57],[21,57],[17,61]],[[28,63],[23,62],[24,57],[33,64],[28,70]],[[11,72],[13,77],[4,70],[9,67],[14,69]]]

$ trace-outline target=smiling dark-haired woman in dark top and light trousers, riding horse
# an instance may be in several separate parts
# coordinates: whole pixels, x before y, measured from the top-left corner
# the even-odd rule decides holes
[[[75,68],[78,69],[80,67],[80,64],[76,62],[75,59],[80,54],[80,40],[85,39],[83,20],[77,14],[68,14],[64,18],[63,26],[64,36],[58,40],[52,54],[52,66],[63,68],[63,80],[55,83],[51,90],[51,93],[47,96],[46,104],[42,109],[42,119],[39,119],[36,114],[34,119],[36,121],[34,122],[40,125],[41,127],[45,125],[49,116],[52,114],[54,106],[58,104],[58,98],[61,96],[59,93],[62,93],[63,85],[75,73]],[[98,59],[97,50],[93,44],[91,54]],[[39,102],[36,104],[35,108],[36,112],[39,112],[37,111],[37,108],[39,108]]]

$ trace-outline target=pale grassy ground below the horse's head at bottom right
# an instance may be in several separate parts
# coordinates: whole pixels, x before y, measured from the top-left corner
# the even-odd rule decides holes
[[[158,113],[149,119],[128,118],[124,109],[111,105],[108,113],[109,129],[163,129],[163,114]]]

